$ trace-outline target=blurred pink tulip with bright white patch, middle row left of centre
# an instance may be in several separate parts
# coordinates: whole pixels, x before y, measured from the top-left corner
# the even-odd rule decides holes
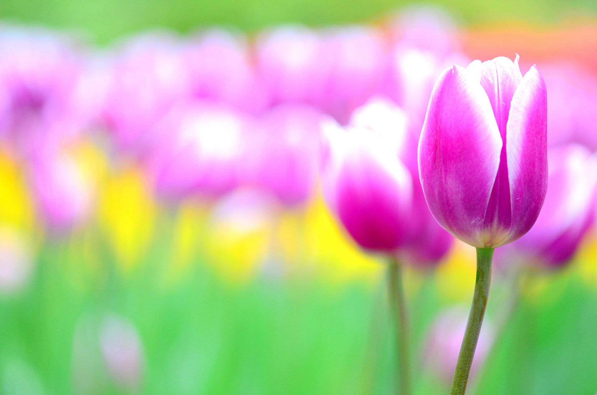
[[[147,159],[158,193],[215,198],[234,189],[251,124],[247,116],[213,103],[174,109],[156,127],[159,137]]]

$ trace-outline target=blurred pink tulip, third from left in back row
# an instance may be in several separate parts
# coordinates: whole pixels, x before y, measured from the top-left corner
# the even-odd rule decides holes
[[[248,112],[263,109],[264,92],[242,39],[224,30],[208,31],[187,42],[184,60],[193,98]]]

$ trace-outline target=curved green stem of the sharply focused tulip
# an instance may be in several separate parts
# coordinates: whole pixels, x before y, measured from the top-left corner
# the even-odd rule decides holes
[[[464,339],[460,346],[456,371],[452,380],[450,395],[464,395],[466,383],[469,380],[470,366],[475,356],[475,348],[481,333],[481,325],[487,307],[489,288],[491,285],[491,260],[493,248],[477,248],[477,276],[473,303],[470,306],[469,321],[466,323]]]

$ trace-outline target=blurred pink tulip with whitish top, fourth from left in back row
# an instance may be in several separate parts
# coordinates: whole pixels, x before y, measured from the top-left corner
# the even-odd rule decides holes
[[[257,41],[257,70],[269,103],[319,104],[325,67],[320,35],[306,27],[282,26]]]

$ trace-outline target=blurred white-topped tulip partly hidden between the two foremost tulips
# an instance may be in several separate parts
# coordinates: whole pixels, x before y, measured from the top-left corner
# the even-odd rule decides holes
[[[407,167],[413,184],[411,206],[406,214],[403,231],[408,242],[399,249],[402,260],[417,266],[436,264],[450,249],[453,237],[433,219],[418,181],[416,148],[417,131],[411,120],[399,107],[387,100],[376,98],[355,110],[351,125],[370,128],[384,136],[386,144]]]

